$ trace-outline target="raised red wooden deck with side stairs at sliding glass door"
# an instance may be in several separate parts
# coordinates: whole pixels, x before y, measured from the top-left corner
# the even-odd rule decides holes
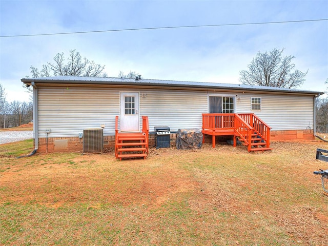
[[[234,147],[239,140],[249,152],[272,150],[270,129],[255,114],[202,114],[202,133],[212,136],[213,148],[215,136],[232,135]]]

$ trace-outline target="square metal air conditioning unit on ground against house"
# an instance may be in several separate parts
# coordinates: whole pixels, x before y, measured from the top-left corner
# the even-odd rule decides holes
[[[83,130],[83,154],[103,153],[104,129],[93,128]]]

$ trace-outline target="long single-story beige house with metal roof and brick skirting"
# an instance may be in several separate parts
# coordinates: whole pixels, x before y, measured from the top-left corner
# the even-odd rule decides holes
[[[113,147],[115,122],[116,133],[139,132],[142,116],[148,116],[150,131],[169,126],[176,132],[204,128],[203,117],[209,113],[248,113],[270,126],[271,140],[314,139],[315,100],[323,94],[141,77],[58,76],[23,78],[22,82],[33,87],[35,149],[42,152],[81,151],[86,129],[101,129],[101,144]],[[223,135],[206,134],[204,139],[215,145]],[[147,140],[153,138],[150,134]]]

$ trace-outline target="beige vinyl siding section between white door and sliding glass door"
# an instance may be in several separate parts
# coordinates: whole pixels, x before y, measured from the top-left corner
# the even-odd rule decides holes
[[[207,113],[207,92],[140,91],[140,114],[149,117],[150,131],[154,131],[154,126],[169,126],[171,131],[201,128],[202,113]]]

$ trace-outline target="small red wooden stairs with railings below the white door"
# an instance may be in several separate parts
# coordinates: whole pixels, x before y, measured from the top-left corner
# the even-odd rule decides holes
[[[136,158],[148,155],[149,124],[148,117],[142,116],[142,131],[136,133],[120,133],[118,131],[118,116],[115,117],[115,157]]]

